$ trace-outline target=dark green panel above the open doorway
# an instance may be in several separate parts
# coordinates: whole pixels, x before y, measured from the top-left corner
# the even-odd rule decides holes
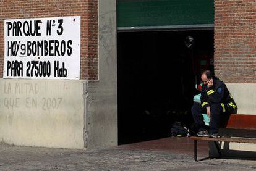
[[[117,27],[213,24],[213,0],[117,0]]]

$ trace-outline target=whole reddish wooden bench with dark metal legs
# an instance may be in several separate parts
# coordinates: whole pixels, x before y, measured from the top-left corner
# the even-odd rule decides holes
[[[228,123],[226,123],[226,129],[241,129],[241,130],[256,130],[256,115],[241,115],[241,114],[231,114]],[[197,141],[213,141],[216,149],[218,151],[219,156],[221,157],[221,150],[218,142],[233,142],[233,143],[250,143],[256,144],[256,138],[252,137],[243,137],[242,135],[236,137],[224,136],[221,138],[208,138],[208,137],[197,137],[191,136],[192,140],[194,140],[194,159],[195,161],[202,161],[204,159],[209,159],[210,157],[205,157],[203,159],[197,159]]]

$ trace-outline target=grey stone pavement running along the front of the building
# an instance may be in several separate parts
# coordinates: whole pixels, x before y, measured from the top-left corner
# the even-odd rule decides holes
[[[195,162],[191,147],[188,138],[163,138],[88,151],[0,144],[0,170],[256,170],[252,159]],[[205,154],[207,148],[202,147],[200,155]]]

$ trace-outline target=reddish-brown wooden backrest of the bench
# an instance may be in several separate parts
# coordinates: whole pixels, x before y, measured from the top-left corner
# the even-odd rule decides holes
[[[231,114],[226,128],[256,130],[256,115]]]

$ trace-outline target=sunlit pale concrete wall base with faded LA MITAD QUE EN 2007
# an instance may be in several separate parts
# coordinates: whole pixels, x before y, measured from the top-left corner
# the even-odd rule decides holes
[[[83,81],[0,80],[0,141],[83,148]]]

